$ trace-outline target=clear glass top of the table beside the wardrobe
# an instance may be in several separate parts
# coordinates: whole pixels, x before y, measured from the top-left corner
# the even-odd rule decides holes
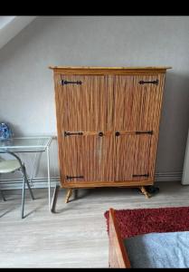
[[[52,136],[17,137],[0,141],[0,152],[42,152],[50,145]]]

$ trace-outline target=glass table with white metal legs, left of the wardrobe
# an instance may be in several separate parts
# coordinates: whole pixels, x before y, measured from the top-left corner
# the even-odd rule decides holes
[[[52,136],[39,136],[39,137],[17,137],[10,140],[0,141],[0,153],[13,152],[35,152],[33,160],[33,168],[31,179],[33,177],[33,169],[36,162],[36,154],[38,152],[46,151],[47,154],[47,179],[48,179],[48,193],[49,193],[49,209],[51,209],[51,177],[50,177],[50,145]]]

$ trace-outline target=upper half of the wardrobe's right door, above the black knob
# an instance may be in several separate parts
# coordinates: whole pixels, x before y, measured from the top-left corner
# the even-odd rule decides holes
[[[115,131],[157,131],[164,74],[116,75]]]

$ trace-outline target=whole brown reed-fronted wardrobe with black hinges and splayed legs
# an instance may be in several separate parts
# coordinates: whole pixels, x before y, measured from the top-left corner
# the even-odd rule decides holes
[[[61,188],[153,185],[166,69],[50,67]]]

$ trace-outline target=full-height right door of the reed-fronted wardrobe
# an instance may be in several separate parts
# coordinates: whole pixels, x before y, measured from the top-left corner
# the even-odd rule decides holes
[[[115,76],[116,181],[153,180],[163,84],[162,74]]]

